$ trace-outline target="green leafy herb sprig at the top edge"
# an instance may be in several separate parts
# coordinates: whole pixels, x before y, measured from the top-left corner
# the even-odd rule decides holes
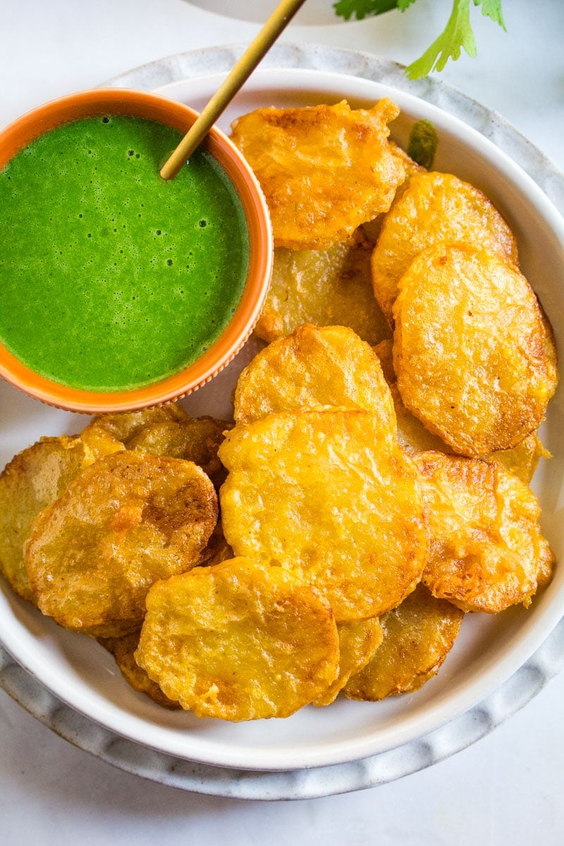
[[[501,0],[473,0],[474,6],[482,7],[482,14],[506,30],[501,12]],[[405,12],[416,0],[338,0],[333,4],[336,14],[345,20],[363,20],[376,14],[398,8]],[[452,12],[441,35],[425,50],[423,56],[416,59],[406,74],[410,80],[420,80],[433,70],[442,70],[449,58],[456,61],[461,50],[474,58],[476,39],[470,24],[470,0],[452,0]]]

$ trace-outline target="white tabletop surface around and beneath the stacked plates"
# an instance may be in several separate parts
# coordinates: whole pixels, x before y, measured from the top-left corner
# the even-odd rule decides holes
[[[243,2],[243,0],[241,0]],[[328,0],[330,2],[330,0]],[[236,0],[226,7],[236,8]],[[561,168],[564,5],[505,0],[508,33],[474,14],[479,58],[441,78],[495,108]],[[330,26],[295,25],[316,41],[408,62],[441,30],[450,0]],[[249,41],[257,25],[184,0],[0,0],[0,125],[53,96],[96,85],[175,52]],[[0,432],[0,437],[2,433]],[[564,677],[478,744],[428,770],[359,794],[262,804],[187,794],[75,750],[0,692],[0,842],[7,846],[158,843],[564,842]]]

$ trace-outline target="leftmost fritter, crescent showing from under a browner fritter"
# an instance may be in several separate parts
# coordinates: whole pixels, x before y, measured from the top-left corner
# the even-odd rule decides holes
[[[79,473],[123,445],[107,432],[43,437],[14,456],[0,475],[0,572],[34,602],[24,566],[24,542],[36,515],[55,502]]]

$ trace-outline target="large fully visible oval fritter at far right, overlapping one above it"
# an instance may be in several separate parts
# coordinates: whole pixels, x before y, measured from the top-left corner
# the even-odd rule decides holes
[[[521,273],[464,244],[424,250],[394,305],[403,403],[457,453],[512,448],[556,390],[556,349]]]

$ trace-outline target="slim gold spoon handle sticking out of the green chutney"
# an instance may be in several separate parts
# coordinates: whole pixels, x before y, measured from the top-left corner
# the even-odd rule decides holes
[[[294,14],[304,3],[305,0],[282,0],[281,3],[278,3],[277,8],[272,12],[259,34],[251,41],[243,56],[233,66],[227,79],[223,81],[200,116],[184,135],[176,150],[172,151],[163,164],[161,168],[162,179],[173,179],[180,168],[183,167],[183,164],[188,162],[200,141],[205,138],[211,126],[216,123],[217,118],[229,102],[233,100],[241,85],[249,79],[260,59],[266,55],[282,30],[286,28]]]

